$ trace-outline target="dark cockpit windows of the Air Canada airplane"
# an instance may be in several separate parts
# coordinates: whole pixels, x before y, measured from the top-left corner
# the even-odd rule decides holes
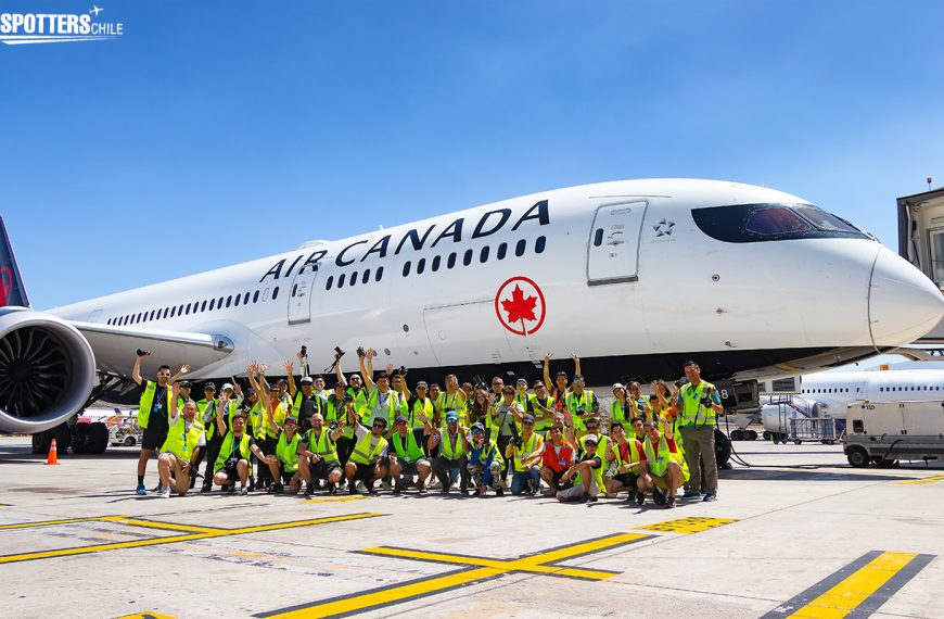
[[[705,235],[728,243],[788,239],[867,239],[853,225],[812,204],[732,204],[692,209]]]

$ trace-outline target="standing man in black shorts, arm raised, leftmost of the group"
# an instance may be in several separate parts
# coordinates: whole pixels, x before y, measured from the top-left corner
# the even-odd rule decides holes
[[[167,395],[169,387],[184,374],[190,371],[190,366],[184,365],[180,371],[170,378],[170,366],[162,365],[157,368],[157,380],[151,381],[141,377],[141,362],[150,355],[148,351],[138,351],[135,357],[135,367],[131,369],[131,379],[141,388],[141,399],[138,405],[138,426],[144,430],[141,439],[141,454],[138,456],[138,488],[137,494],[148,494],[144,488],[144,475],[148,472],[148,460],[151,453],[160,450],[167,440],[168,406]],[[157,490],[160,490],[160,484]]]

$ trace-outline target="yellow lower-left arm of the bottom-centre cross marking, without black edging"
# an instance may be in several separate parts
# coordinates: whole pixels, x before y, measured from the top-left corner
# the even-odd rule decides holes
[[[413,581],[398,586],[377,590],[370,593],[358,594],[349,597],[334,598],[306,608],[289,610],[280,615],[268,617],[333,617],[336,615],[349,615],[361,610],[398,604],[413,597],[422,597],[439,593],[457,586],[462,586],[476,580],[495,578],[508,570],[493,568],[475,568],[456,573],[449,573],[428,580]]]

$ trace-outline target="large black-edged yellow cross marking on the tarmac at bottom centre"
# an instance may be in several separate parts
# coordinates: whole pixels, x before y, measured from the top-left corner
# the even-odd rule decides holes
[[[584,569],[559,565],[564,559],[598,553],[641,542],[652,535],[640,533],[616,533],[548,548],[518,558],[490,558],[451,553],[435,553],[412,548],[377,546],[357,551],[358,554],[396,557],[421,561],[443,563],[463,566],[460,569],[436,576],[420,578],[394,585],[380,586],[369,591],[341,595],[288,608],[263,612],[256,617],[343,617],[365,610],[375,610],[385,606],[401,604],[411,599],[450,591],[460,586],[484,582],[507,573],[537,573],[581,580],[599,581],[621,572],[599,569]]]

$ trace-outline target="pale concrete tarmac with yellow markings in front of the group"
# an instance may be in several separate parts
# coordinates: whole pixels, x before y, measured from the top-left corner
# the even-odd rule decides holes
[[[735,443],[718,501],[135,495],[0,438],[3,617],[944,617],[944,466]],[[156,460],[148,485],[157,480]],[[623,495],[625,496],[625,495]]]

